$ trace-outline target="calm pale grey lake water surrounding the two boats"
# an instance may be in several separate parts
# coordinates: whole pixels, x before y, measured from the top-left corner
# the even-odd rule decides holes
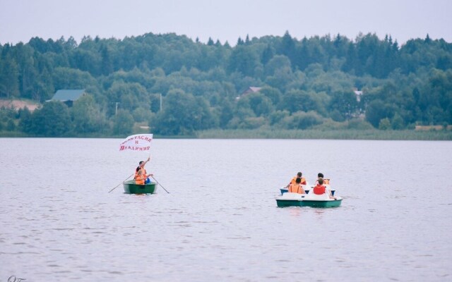
[[[0,138],[0,281],[451,281],[452,142]],[[297,171],[335,209],[276,207]]]

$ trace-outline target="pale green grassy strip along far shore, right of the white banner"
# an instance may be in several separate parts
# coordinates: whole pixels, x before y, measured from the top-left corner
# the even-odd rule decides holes
[[[452,140],[451,130],[206,130],[208,139]]]

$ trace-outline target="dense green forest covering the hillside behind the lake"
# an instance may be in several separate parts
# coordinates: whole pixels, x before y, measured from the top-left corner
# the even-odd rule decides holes
[[[239,38],[175,34],[0,44],[0,132],[23,136],[157,135],[200,130],[408,130],[452,124],[452,44],[386,36]],[[257,92],[243,94],[249,87]],[[85,90],[72,106],[47,102]],[[359,94],[357,94],[359,93]],[[149,128],[147,128],[147,126]]]

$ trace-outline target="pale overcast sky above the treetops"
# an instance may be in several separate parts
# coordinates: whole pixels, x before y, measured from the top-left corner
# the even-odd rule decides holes
[[[452,0],[0,0],[0,44],[174,32],[235,45],[286,30],[297,39],[371,32],[403,44],[428,33],[452,42]]]

